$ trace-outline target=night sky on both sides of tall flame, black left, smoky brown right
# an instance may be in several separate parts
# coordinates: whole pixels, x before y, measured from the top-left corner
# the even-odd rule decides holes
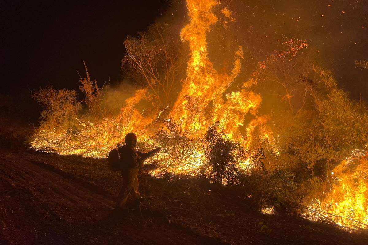
[[[116,83],[121,80],[125,37],[162,18],[183,24],[184,4],[175,1],[180,11],[173,11],[168,0],[3,0],[0,93],[39,110],[30,91],[47,84],[78,90],[77,70],[84,75],[83,60],[100,85],[109,78]],[[224,0],[222,4],[237,19],[234,43],[266,53],[272,49],[270,40],[306,39],[319,50],[341,86],[353,98],[361,93],[367,100],[368,69],[354,64],[368,59],[367,0]],[[33,114],[32,110],[26,113]]]

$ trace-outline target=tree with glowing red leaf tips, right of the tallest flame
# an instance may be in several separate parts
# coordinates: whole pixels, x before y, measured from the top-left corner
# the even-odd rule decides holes
[[[253,76],[281,102],[287,102],[292,114],[297,114],[308,100],[309,84],[303,81],[311,73],[313,53],[302,40],[289,39],[278,44],[280,49],[259,62]]]

